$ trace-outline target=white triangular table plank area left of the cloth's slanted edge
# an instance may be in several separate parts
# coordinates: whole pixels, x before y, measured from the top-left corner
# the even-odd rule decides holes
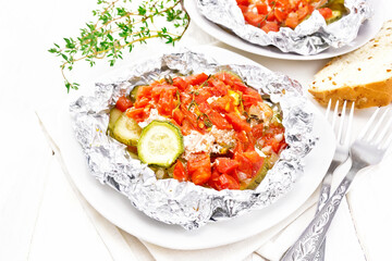
[[[54,157],[28,260],[112,260]]]

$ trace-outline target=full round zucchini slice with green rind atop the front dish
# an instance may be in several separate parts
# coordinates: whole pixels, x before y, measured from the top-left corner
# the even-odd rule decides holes
[[[142,132],[137,152],[144,163],[169,167],[184,152],[181,130],[169,122],[152,121]]]

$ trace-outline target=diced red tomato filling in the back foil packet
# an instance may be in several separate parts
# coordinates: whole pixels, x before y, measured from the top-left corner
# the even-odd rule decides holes
[[[236,0],[246,23],[266,33],[280,27],[295,28],[315,10],[332,23],[346,13],[344,0]]]

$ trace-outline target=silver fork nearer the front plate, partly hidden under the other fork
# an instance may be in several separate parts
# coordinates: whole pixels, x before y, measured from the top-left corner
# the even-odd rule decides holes
[[[332,100],[329,100],[328,107],[327,107],[327,112],[326,112],[327,119],[331,111],[331,103],[332,103]],[[348,116],[348,124],[346,126],[346,132],[345,132],[345,137],[343,137],[343,126],[344,126],[344,121],[345,121],[346,104],[347,104],[347,101],[344,101],[342,112],[341,112],[342,117],[340,120],[338,135],[335,134],[336,149],[333,154],[332,162],[331,162],[331,164],[327,171],[327,174],[323,177],[322,183],[321,183],[321,190],[320,190],[320,196],[319,196],[319,201],[317,204],[316,213],[318,213],[322,209],[322,207],[326,204],[327,200],[329,199],[333,172],[338,169],[338,166],[340,166],[341,164],[346,162],[346,160],[348,159],[348,148],[350,148],[355,103],[354,102],[352,103],[352,108],[350,110],[350,116]],[[333,111],[332,129],[334,129],[334,126],[338,122],[338,114],[339,114],[339,100],[336,101],[336,104],[335,104],[335,108]],[[324,253],[326,253],[326,240],[323,240],[318,252],[316,253],[315,261],[323,261]]]

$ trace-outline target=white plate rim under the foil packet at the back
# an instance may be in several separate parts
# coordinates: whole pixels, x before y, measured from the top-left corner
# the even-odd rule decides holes
[[[213,38],[223,41],[224,44],[235,47],[237,49],[252,52],[258,55],[284,59],[284,60],[320,60],[332,57],[338,57],[347,52],[351,52],[376,36],[380,30],[384,22],[384,4],[381,0],[377,1],[375,5],[375,13],[371,20],[366,21],[359,28],[358,36],[353,42],[342,48],[329,48],[323,52],[314,55],[301,55],[297,53],[282,52],[278,48],[272,46],[257,46],[241,39],[238,36],[230,33],[219,25],[207,20],[197,9],[196,0],[186,0],[185,9],[191,16],[191,20],[194,21],[199,28],[212,36]]]

